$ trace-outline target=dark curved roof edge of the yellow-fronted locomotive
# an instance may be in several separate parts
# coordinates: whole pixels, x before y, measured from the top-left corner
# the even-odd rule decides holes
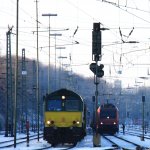
[[[54,92],[48,94],[47,97],[49,99],[51,99],[51,98],[59,97],[62,95],[66,96],[66,97],[74,97],[76,99],[82,99],[80,95],[78,95],[77,93],[75,93],[71,90],[68,90],[68,89],[59,89],[57,91],[54,91]]]

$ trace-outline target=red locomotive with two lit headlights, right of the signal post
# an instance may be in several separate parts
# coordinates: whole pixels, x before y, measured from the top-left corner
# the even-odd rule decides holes
[[[98,110],[98,132],[100,134],[115,134],[119,131],[118,108],[113,104],[103,104]]]

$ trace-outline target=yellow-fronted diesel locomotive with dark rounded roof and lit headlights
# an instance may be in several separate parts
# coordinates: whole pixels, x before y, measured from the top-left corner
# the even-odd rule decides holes
[[[76,144],[86,135],[86,106],[77,93],[60,89],[44,97],[44,140]]]

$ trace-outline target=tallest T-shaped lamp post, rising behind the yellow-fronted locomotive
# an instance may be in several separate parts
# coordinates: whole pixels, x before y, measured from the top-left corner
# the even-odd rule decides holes
[[[50,93],[50,17],[57,16],[57,14],[48,13],[48,14],[42,14],[42,16],[49,17],[49,34],[48,34],[48,37],[49,37],[49,64],[48,64],[48,91],[47,92]]]

